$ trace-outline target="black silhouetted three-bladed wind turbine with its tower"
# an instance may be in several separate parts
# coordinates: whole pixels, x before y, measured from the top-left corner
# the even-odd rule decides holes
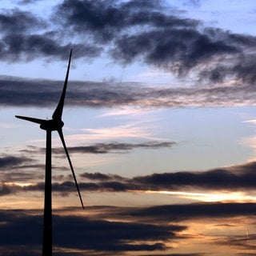
[[[40,125],[42,130],[46,130],[46,176],[45,176],[45,202],[44,202],[44,215],[43,215],[43,235],[42,235],[42,256],[51,256],[52,255],[52,203],[51,203],[51,132],[57,130],[59,137],[62,141],[64,147],[66,158],[70,163],[70,169],[73,174],[75,186],[78,190],[78,195],[80,202],[82,204],[82,209],[84,209],[82,196],[78,187],[78,182],[74,174],[74,168],[72,166],[70,155],[66,148],[66,142],[62,133],[62,127],[64,122],[62,122],[62,111],[66,95],[66,85],[69,78],[70,72],[70,61],[71,61],[72,50],[70,50],[70,58],[68,62],[68,67],[66,70],[66,79],[64,82],[63,90],[61,97],[58,102],[58,106],[54,110],[52,119],[39,119],[39,118],[29,118],[20,115],[15,115],[16,118],[24,119],[26,121],[35,122]]]

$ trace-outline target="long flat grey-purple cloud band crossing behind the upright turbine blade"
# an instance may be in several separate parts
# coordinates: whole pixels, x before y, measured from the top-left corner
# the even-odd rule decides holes
[[[221,69],[220,69],[221,72]],[[221,79],[213,74],[214,79]],[[249,75],[249,74],[248,74]],[[62,81],[0,78],[0,105],[54,108]],[[67,106],[248,106],[255,104],[254,86],[195,86],[192,88],[147,87],[142,83],[70,82]],[[24,101],[26,98],[26,101]],[[22,114],[22,113],[20,113]]]

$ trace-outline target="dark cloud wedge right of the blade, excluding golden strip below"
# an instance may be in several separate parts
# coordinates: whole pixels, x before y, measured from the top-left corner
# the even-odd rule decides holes
[[[101,190],[254,190],[255,162],[232,168],[215,169],[200,172],[174,172],[150,174],[134,178],[98,173],[82,174],[91,180],[98,178]],[[103,182],[104,181],[104,182]],[[83,184],[83,183],[82,183]],[[81,185],[82,188],[84,185]],[[84,187],[86,189],[86,187]]]

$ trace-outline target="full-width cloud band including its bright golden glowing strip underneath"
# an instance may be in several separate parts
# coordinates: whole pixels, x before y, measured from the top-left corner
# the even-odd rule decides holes
[[[204,202],[254,202],[255,196],[251,194],[254,190],[254,168],[255,162],[250,162],[207,171],[159,173],[134,178],[116,174],[83,173],[79,186],[85,191],[173,194]],[[30,186],[13,186],[8,182],[3,182],[2,186],[10,186],[12,192],[43,190],[41,182]],[[56,180],[53,190],[73,193],[74,182]]]

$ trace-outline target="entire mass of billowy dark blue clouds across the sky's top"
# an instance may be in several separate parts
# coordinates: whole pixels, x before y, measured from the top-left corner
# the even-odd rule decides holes
[[[2,10],[0,58],[66,59],[74,48],[74,58],[109,53],[124,64],[139,61],[182,78],[194,74],[194,82],[200,84],[255,82],[254,36],[205,27],[181,16],[166,1],[65,0],[54,6],[52,19]]]

